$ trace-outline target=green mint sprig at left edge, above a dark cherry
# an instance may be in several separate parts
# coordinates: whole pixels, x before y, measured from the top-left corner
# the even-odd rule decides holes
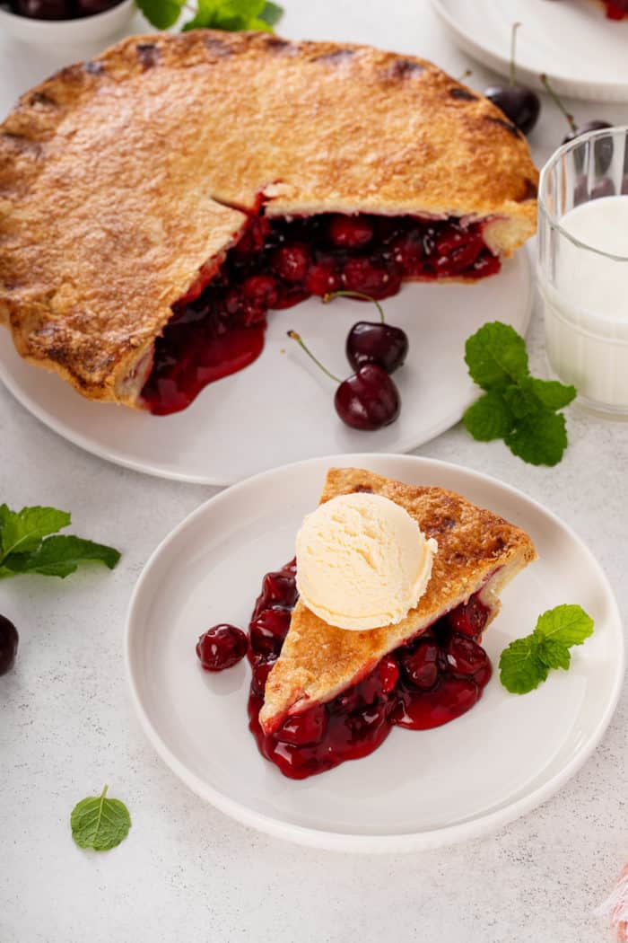
[[[113,547],[56,534],[71,521],[71,514],[56,507],[37,505],[11,511],[7,505],[0,505],[0,579],[20,573],[63,579],[90,560],[113,570],[120,560],[119,551]]]

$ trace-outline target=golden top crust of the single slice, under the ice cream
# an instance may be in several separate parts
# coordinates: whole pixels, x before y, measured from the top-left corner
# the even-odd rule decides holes
[[[438,541],[425,595],[408,616],[382,629],[347,632],[328,625],[298,602],[282,653],[266,681],[260,722],[266,734],[287,714],[329,701],[372,670],[384,654],[421,633],[444,613],[481,590],[499,611],[497,593],[536,558],[519,527],[443,488],[413,488],[362,469],[330,469],[321,503],[339,494],[371,490],[405,507],[427,537]]]

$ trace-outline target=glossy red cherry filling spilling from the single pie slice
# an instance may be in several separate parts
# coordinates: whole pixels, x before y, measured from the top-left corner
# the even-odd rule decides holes
[[[395,725],[411,730],[441,726],[482,696],[491,678],[491,662],[480,645],[490,610],[474,595],[385,655],[356,685],[289,717],[267,736],[258,715],[297,602],[295,577],[294,560],[266,573],[250,620],[249,727],[260,753],[285,776],[305,779],[373,753]]]

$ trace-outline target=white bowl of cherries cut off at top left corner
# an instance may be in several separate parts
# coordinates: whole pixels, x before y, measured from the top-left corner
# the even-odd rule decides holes
[[[122,0],[116,7],[76,20],[32,20],[0,9],[0,33],[48,48],[81,46],[121,36],[136,10],[135,0]]]

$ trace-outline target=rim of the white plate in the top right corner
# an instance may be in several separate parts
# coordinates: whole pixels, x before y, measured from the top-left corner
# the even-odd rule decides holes
[[[452,13],[447,8],[447,0],[431,0],[432,8],[441,18],[443,25],[456,38],[456,42],[465,52],[469,53],[479,62],[483,63],[489,69],[502,75],[508,74],[509,60],[507,56],[500,56],[486,46],[469,36],[456,22]],[[581,82],[570,75],[565,75],[554,71],[552,65],[546,70],[556,91],[572,96],[582,101],[600,102],[607,101],[625,103],[628,102],[628,82],[606,82],[606,81],[587,81]],[[517,63],[517,73],[522,75],[528,84],[531,84],[538,91],[545,91],[539,81],[539,75],[521,63]]]

